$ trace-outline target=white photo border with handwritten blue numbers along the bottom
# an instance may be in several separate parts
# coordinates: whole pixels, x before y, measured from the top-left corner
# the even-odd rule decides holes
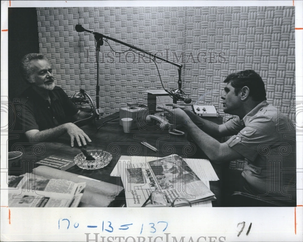
[[[302,1],[1,1],[1,30],[8,29],[8,8],[11,7],[135,7],[135,6],[293,6],[295,5],[295,28],[302,28]],[[303,102],[303,68],[302,68],[302,43],[303,30],[295,31],[296,50],[296,97]],[[1,101],[8,96],[8,32],[1,31]],[[7,123],[7,113],[1,112],[1,127]],[[302,124],[302,112],[297,113],[297,123]],[[297,204],[303,205],[302,194],[302,134],[297,135]],[[128,241],[145,238],[149,240],[166,241],[165,234],[169,233],[168,242],[177,241],[182,237],[184,241],[302,241],[303,240],[303,207],[290,208],[7,208],[6,161],[7,161],[7,136],[1,134],[1,241],[86,241],[85,233],[90,233],[89,239],[93,241],[94,234],[100,236],[124,236]],[[10,215],[9,215],[10,213]],[[296,217],[296,234],[295,234]],[[9,219],[10,218],[10,219]],[[70,228],[66,221],[70,220]],[[61,228],[58,221],[61,219]],[[9,224],[10,221],[10,224]],[[113,233],[102,233],[102,221],[112,222]],[[168,228],[164,232],[148,233],[141,226],[157,224],[158,221],[167,221]],[[246,222],[242,234],[238,237],[240,222]],[[75,223],[78,223],[77,228]],[[118,230],[122,224],[131,224],[129,230]],[[248,225],[252,223],[251,231],[246,236]],[[88,228],[87,225],[98,225],[98,228]],[[158,224],[159,225],[159,224]],[[156,227],[156,225],[155,225]],[[160,226],[157,227],[160,231]],[[152,230],[152,229],[151,229]],[[142,238],[137,238],[137,237]],[[152,237],[152,238],[149,238]],[[204,240],[204,238],[206,240]],[[210,238],[213,237],[213,238]],[[216,238],[214,238],[216,237]],[[225,237],[225,239],[223,239]],[[125,241],[125,240],[121,240]]]

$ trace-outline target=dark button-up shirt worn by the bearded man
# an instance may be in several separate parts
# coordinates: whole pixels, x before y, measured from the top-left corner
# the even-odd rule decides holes
[[[19,116],[17,120],[19,125],[24,127],[24,132],[32,129],[41,131],[72,122],[72,116],[78,112],[78,108],[62,88],[55,86],[49,91],[49,97],[51,104],[32,87],[21,94],[20,102],[24,103],[24,116]]]

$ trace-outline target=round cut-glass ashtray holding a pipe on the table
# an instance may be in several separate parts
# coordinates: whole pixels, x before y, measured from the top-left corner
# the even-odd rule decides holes
[[[83,153],[80,153],[75,156],[75,163],[78,167],[86,170],[95,170],[100,169],[109,164],[112,160],[112,154],[104,151],[102,149],[91,149],[87,150],[88,154],[92,155],[96,160],[95,161],[87,161],[85,160],[85,156]]]

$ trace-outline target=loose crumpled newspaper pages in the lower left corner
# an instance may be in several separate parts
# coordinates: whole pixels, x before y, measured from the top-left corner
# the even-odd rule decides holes
[[[9,176],[8,186],[9,207],[77,207],[85,182],[46,179],[25,173],[21,176]]]

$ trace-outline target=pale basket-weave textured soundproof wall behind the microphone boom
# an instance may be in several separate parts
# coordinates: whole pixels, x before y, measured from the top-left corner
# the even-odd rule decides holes
[[[181,57],[183,91],[199,104],[215,105],[222,116],[222,81],[235,71],[257,71],[269,103],[295,96],[294,7],[37,8],[37,14],[40,52],[69,95],[81,87],[95,100],[95,40],[75,31],[81,24],[170,60]],[[115,51],[129,49],[108,42]],[[100,107],[106,115],[132,99],[143,100],[145,90],[162,89],[151,61],[132,52],[112,57],[106,42],[100,51]],[[158,68],[165,87],[177,88],[177,67],[160,63]]]

